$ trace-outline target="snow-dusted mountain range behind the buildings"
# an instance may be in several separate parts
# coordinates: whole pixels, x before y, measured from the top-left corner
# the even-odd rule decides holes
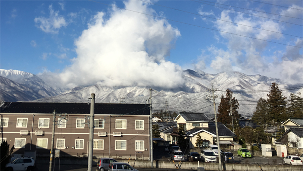
[[[286,84],[281,79],[262,75],[246,75],[241,72],[220,72],[209,74],[201,70],[184,70],[184,85],[175,89],[151,88],[153,111],[203,112],[214,114],[212,87],[215,91],[216,107],[227,89],[234,93],[239,102],[239,114],[250,118],[260,98],[267,99],[272,82],[279,84],[283,96],[303,92],[303,83]],[[52,87],[37,75],[0,69],[1,101],[17,102],[70,102],[88,103],[90,94],[95,94],[95,103],[140,103],[148,104],[149,87],[106,87],[94,84],[88,87],[63,89]],[[294,89],[293,89],[294,88]]]

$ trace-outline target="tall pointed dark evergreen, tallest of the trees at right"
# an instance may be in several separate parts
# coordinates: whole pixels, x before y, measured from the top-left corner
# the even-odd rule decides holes
[[[279,84],[273,82],[271,84],[270,93],[267,94],[267,104],[268,104],[268,117],[280,125],[282,122],[288,119],[285,109],[286,109],[286,97],[283,97],[282,91],[279,90]]]

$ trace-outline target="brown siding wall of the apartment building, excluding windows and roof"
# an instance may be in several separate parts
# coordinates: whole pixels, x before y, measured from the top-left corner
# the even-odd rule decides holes
[[[60,115],[60,114],[59,114]],[[89,141],[88,116],[83,114],[70,114],[67,117],[66,128],[55,126],[54,148],[57,147],[57,139],[65,139],[65,146],[60,149],[61,156],[87,156]],[[1,118],[9,118],[8,127],[3,127],[1,137],[6,138],[10,146],[15,144],[15,138],[26,138],[25,148],[16,148],[15,153],[23,154],[24,150],[36,150],[37,156],[49,156],[52,145],[52,114],[1,114]],[[27,118],[25,128],[17,128],[17,118]],[[48,128],[39,128],[39,118],[48,118]],[[58,121],[60,116],[56,116]],[[61,117],[62,118],[62,117]],[[84,119],[84,128],[76,128],[77,119]],[[149,117],[146,115],[95,115],[94,119],[104,119],[104,128],[94,128],[94,140],[104,140],[103,149],[93,149],[93,155],[97,157],[133,158],[140,153],[144,159],[149,158]],[[116,120],[126,120],[126,129],[117,129]],[[143,121],[144,129],[136,129],[136,120]],[[28,135],[20,135],[21,130],[29,131]],[[35,131],[44,131],[43,135],[35,135]],[[98,136],[98,132],[107,132],[106,136]],[[114,132],[121,132],[121,136],[114,136]],[[47,148],[37,147],[37,139],[47,139]],[[83,149],[75,149],[75,140],[83,139]],[[116,149],[116,140],[126,140],[126,150]],[[136,150],[136,141],[144,141],[144,150]]]

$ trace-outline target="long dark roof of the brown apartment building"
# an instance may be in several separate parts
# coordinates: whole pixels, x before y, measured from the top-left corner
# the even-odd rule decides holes
[[[0,113],[68,113],[89,114],[90,104],[87,103],[32,103],[5,102]],[[94,114],[109,115],[150,115],[149,106],[145,104],[107,104],[95,103]]]

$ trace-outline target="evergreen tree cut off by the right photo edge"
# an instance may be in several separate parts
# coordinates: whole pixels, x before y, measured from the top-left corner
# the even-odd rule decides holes
[[[288,117],[291,118],[302,118],[303,117],[303,98],[300,97],[301,93],[298,95],[293,93],[290,94],[290,104],[286,109]]]

